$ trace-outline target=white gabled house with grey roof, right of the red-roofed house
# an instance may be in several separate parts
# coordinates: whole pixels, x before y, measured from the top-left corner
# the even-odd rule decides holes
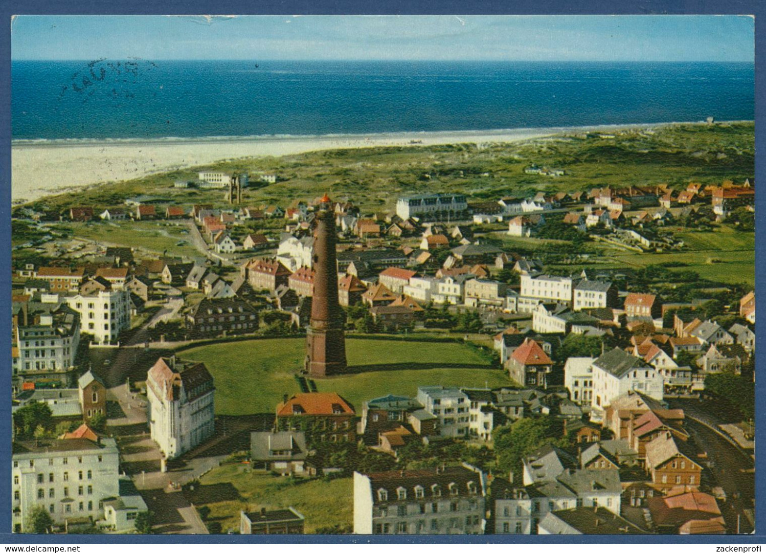
[[[593,362],[593,398],[591,419],[599,420],[604,409],[614,398],[639,391],[650,398],[663,398],[663,375],[650,367],[643,359],[634,357],[623,349],[614,348]]]

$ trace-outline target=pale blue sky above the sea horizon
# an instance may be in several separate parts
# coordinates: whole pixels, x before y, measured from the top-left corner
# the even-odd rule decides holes
[[[753,61],[736,15],[22,15],[14,60]]]

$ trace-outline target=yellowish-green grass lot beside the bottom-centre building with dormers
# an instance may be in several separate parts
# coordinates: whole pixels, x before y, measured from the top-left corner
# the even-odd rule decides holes
[[[241,510],[253,512],[261,507],[295,508],[306,517],[306,534],[322,526],[352,524],[352,479],[290,483],[287,477],[246,473],[245,467],[219,466],[202,476],[198,489],[188,492],[195,506],[210,507],[208,521],[221,522],[224,533],[239,529]]]

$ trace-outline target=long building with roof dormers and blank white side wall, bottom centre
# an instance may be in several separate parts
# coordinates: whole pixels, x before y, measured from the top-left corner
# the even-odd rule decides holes
[[[484,473],[462,466],[354,473],[354,533],[483,534]]]

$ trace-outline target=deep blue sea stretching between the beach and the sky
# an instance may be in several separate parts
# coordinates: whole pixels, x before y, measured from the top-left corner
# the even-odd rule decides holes
[[[739,63],[15,61],[13,139],[518,129],[755,118]]]

